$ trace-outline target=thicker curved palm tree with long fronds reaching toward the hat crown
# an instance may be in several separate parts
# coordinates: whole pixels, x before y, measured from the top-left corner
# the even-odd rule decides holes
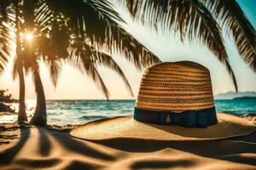
[[[137,68],[143,68],[148,65],[160,62],[154,54],[150,53],[147,48],[124,29],[122,29],[115,20],[120,18],[115,16],[110,3],[102,3],[101,1],[82,1],[75,2],[69,0],[66,2],[58,2],[53,0],[41,1],[40,16],[36,17],[42,20],[48,20],[49,37],[55,37],[51,41],[45,41],[45,37],[41,37],[38,46],[41,47],[40,55],[49,59],[50,64],[55,63],[55,59],[67,59],[79,68],[80,71],[87,73],[98,87],[102,90],[108,99],[108,88],[102,80],[97,65],[108,66],[121,76],[131,92],[129,82],[125,78],[125,74],[119,68],[109,54],[100,51],[104,46],[108,52],[118,50],[125,54],[127,59],[131,60]],[[41,21],[40,21],[41,23]],[[46,23],[44,21],[44,23]],[[60,40],[61,38],[61,40]],[[125,41],[126,40],[126,41]],[[40,44],[44,42],[44,44]],[[49,47],[49,44],[52,45]],[[47,47],[44,50],[42,47]],[[49,49],[54,47],[55,52],[49,54]],[[67,49],[70,53],[67,55]],[[45,56],[45,57],[44,57]],[[58,67],[51,65],[51,75],[53,82],[56,82]],[[38,75],[38,74],[37,74]],[[36,78],[35,78],[36,80]],[[38,125],[46,124],[46,109],[44,88],[40,82],[38,87],[38,103],[42,107],[37,107],[35,115],[32,117],[32,123]],[[132,94],[132,92],[131,92]],[[44,107],[43,107],[44,106]]]

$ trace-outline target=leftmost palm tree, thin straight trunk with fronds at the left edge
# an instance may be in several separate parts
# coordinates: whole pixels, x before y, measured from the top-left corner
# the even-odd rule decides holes
[[[14,6],[16,5],[16,6]],[[16,9],[16,11],[15,11]],[[19,98],[19,114],[18,121],[27,121],[26,117],[26,105],[25,105],[25,80],[24,73],[22,69],[23,61],[20,53],[20,24],[19,20],[16,20],[13,13],[17,15],[20,14],[18,3],[13,3],[12,1],[1,1],[0,2],[0,72],[4,70],[5,65],[9,60],[13,48],[13,40],[11,37],[11,32],[15,32],[16,35],[16,61],[17,63],[17,73],[20,80],[20,98]],[[14,28],[16,26],[16,29]]]

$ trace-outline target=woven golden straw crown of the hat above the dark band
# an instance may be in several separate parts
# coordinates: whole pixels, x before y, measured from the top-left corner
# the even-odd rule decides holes
[[[152,65],[143,73],[136,107],[176,113],[212,108],[210,72],[190,61]]]

